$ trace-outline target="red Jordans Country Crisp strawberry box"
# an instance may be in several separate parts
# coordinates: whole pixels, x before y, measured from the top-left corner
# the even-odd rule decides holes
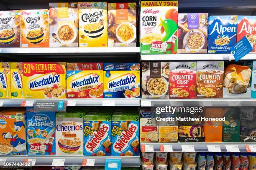
[[[170,62],[169,65],[169,98],[196,98],[196,62]]]

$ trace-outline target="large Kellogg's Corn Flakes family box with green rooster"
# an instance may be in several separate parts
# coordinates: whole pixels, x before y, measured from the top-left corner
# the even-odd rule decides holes
[[[177,54],[178,1],[141,1],[141,54]]]

